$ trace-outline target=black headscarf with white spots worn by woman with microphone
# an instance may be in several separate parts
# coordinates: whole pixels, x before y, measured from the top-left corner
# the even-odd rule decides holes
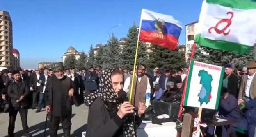
[[[91,93],[85,97],[85,105],[91,106],[97,97],[100,97],[103,102],[114,102],[117,103],[117,107],[121,105],[118,101],[118,97],[114,92],[114,88],[111,82],[111,74],[114,69],[106,69],[103,75],[100,77],[99,89],[96,92]],[[133,117],[124,117],[125,121],[123,124],[124,137],[137,137],[134,128]]]

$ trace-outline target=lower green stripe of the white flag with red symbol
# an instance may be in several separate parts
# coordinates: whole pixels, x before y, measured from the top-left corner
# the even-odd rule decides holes
[[[201,34],[198,34],[196,36],[195,42],[200,46],[206,46],[209,48],[219,49],[223,51],[233,51],[238,54],[249,53],[252,48],[252,46],[242,45],[234,42],[210,40],[208,38],[201,37]]]

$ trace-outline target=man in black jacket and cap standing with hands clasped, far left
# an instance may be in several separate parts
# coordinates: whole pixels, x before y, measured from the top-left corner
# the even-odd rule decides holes
[[[14,137],[14,128],[15,128],[15,120],[18,112],[21,116],[22,128],[24,131],[24,135],[26,137],[31,137],[28,134],[28,126],[27,126],[27,108],[28,108],[28,95],[29,95],[29,87],[27,84],[21,80],[21,74],[19,71],[13,71],[12,73],[14,77],[14,81],[8,87],[8,96],[11,100],[12,108],[9,111],[9,127],[8,127],[8,135],[9,137]]]

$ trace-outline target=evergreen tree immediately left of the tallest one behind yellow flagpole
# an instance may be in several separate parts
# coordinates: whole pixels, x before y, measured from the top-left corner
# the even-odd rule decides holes
[[[110,41],[108,41],[103,56],[103,69],[114,68],[119,66],[119,43],[114,34],[112,34]]]

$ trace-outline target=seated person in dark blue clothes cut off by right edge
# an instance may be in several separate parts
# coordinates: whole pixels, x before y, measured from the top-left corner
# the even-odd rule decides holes
[[[248,121],[248,135],[249,137],[255,137],[254,129],[256,128],[256,99],[250,100],[246,103],[245,117]]]

